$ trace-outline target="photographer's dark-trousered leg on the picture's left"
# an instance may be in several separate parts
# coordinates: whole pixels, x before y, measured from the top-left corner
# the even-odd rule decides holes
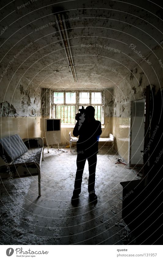
[[[83,170],[84,170],[84,165],[86,160],[87,158],[86,156],[84,156],[84,154],[77,155],[77,159],[76,159],[77,171],[76,171],[73,195],[79,195],[81,192],[82,176],[83,176]]]

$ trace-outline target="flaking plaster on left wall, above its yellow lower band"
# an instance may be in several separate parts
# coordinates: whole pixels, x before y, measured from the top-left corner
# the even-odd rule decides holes
[[[8,85],[8,78],[4,78],[2,81],[4,86]],[[41,88],[38,88],[27,78],[22,77],[20,80],[19,77],[15,76],[7,91],[6,88],[2,88],[1,94],[0,115],[2,117],[41,115]]]

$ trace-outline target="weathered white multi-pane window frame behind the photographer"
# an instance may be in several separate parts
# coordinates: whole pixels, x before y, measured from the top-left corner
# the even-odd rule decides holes
[[[54,104],[53,102],[54,102],[54,92],[64,92],[64,103],[62,103],[62,104]],[[76,103],[75,104],[68,104],[68,103],[66,103],[66,100],[65,100],[65,98],[66,98],[66,92],[75,92],[76,93]],[[90,97],[89,97],[89,102],[90,102],[90,104],[80,104],[79,103],[79,100],[80,100],[80,92],[89,92],[90,93]],[[92,96],[92,92],[101,92],[102,93],[102,103],[101,104],[91,104],[91,96]],[[104,106],[104,104],[105,104],[105,91],[103,90],[103,89],[98,89],[98,90],[90,90],[90,89],[82,89],[82,90],[70,90],[70,89],[66,89],[66,90],[61,90],[61,89],[51,89],[51,102],[50,102],[50,104],[51,104],[51,118],[56,118],[56,107],[57,106],[75,106],[75,115],[77,114],[77,111],[79,111],[79,107],[80,106],[83,106],[83,107],[87,107],[87,106],[101,106],[101,110],[102,110],[102,112],[101,112],[101,124],[102,125],[104,125],[105,124],[105,106]],[[54,106],[55,106],[55,117],[54,117]],[[76,121],[76,120],[75,120]],[[76,122],[75,123],[61,123],[61,125],[64,125],[64,126],[66,126],[66,125],[70,125],[70,126],[74,126],[76,124]]]

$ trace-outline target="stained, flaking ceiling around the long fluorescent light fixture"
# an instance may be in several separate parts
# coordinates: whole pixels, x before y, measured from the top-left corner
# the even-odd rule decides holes
[[[1,1],[1,68],[42,88],[112,88],[163,40],[161,2],[155,1]],[[59,2],[59,1],[58,1]],[[20,6],[22,4],[24,7]],[[76,69],[73,81],[55,13],[64,14]],[[43,27],[40,28],[39,27]],[[30,44],[31,43],[31,44]],[[21,51],[23,47],[25,50]],[[91,44],[84,47],[83,44]],[[107,49],[109,47],[109,49]],[[115,51],[117,50],[117,51]],[[107,66],[104,68],[102,66]]]

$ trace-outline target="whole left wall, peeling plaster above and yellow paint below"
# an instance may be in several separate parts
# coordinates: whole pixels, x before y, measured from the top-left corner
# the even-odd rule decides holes
[[[11,80],[9,80],[11,78]],[[1,80],[1,137],[42,137],[40,131],[41,89],[27,78],[5,75]]]

